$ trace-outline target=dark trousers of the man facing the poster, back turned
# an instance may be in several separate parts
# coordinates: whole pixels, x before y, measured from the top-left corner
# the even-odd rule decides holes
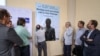
[[[45,41],[38,43],[38,56],[42,56],[42,50],[43,50],[44,56],[47,56],[47,46],[46,46]]]

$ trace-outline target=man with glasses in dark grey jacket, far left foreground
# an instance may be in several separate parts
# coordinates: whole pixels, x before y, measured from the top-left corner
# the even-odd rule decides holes
[[[11,49],[14,44],[23,44],[14,29],[6,26],[10,21],[10,17],[6,9],[0,8],[0,56],[11,56]]]

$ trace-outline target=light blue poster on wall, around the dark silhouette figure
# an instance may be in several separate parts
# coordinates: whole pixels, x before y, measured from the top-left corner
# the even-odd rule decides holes
[[[59,39],[59,7],[36,3],[35,24],[40,24],[42,27],[46,27],[47,18],[51,20],[51,27],[55,29],[55,38]]]

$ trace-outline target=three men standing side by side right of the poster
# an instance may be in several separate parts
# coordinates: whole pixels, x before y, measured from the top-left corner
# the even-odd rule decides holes
[[[71,27],[71,23],[66,22],[63,37],[63,56],[71,56],[71,53],[75,56],[100,56],[100,30],[96,28],[98,22],[90,20],[86,26],[87,28],[84,25],[84,21],[79,21],[78,29],[73,34],[74,29]],[[74,48],[72,47],[73,44]]]

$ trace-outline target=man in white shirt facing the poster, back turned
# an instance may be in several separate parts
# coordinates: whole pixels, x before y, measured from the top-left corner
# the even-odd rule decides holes
[[[42,56],[42,50],[44,52],[44,56],[47,56],[47,46],[45,41],[45,30],[40,26],[36,26],[36,33],[35,33],[35,45],[38,47],[38,56]]]

